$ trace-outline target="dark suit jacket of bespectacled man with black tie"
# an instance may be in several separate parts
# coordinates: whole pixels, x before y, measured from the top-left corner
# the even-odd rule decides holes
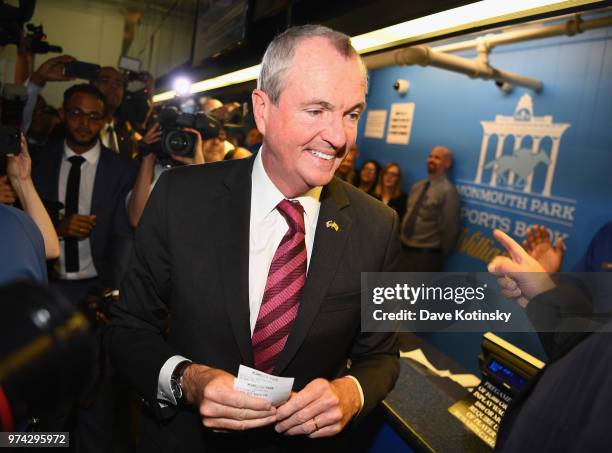
[[[59,172],[64,144],[56,144],[42,153],[32,171],[36,190],[45,202],[58,201]],[[91,235],[91,253],[104,286],[118,288],[126,268],[133,229],[129,225],[125,199],[134,185],[135,164],[102,146],[96,169],[91,213],[96,225]],[[57,220],[57,219],[55,219]]]

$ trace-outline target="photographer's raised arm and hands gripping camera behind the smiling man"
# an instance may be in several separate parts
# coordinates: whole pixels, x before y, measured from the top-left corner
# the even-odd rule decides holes
[[[185,128],[183,130],[192,132],[197,136],[194,155],[193,157],[185,157],[170,154],[170,157],[183,165],[203,164],[205,162],[204,149],[210,149],[218,140],[215,138],[202,140],[202,136],[197,130],[190,128]],[[159,124],[156,123],[147,131],[141,141],[140,148],[143,151],[142,161],[140,162],[138,175],[134,182],[134,188],[127,196],[128,218],[130,225],[134,228],[138,226],[138,222],[147,204],[151,190],[153,190],[157,179],[165,170],[165,167],[157,160],[157,155],[150,150],[151,145],[160,141],[161,135]]]

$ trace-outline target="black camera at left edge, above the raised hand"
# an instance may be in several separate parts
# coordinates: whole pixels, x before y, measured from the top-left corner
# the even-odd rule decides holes
[[[4,175],[6,156],[21,151],[21,119],[28,91],[24,86],[7,84],[0,93],[0,175]]]

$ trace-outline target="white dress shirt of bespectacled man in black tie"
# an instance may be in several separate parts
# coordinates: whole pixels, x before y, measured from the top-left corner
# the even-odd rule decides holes
[[[77,154],[72,151],[66,143],[64,143],[64,155],[60,166],[60,176],[58,181],[58,200],[66,204],[66,185],[68,184],[68,174],[72,164],[68,160]],[[98,161],[100,160],[100,142],[98,141],[89,151],[80,154],[85,159],[81,164],[81,184],[79,186],[79,211],[81,215],[89,215],[91,213],[91,198],[93,196],[93,188],[96,180],[96,170]],[[65,214],[65,209],[60,211],[60,214]],[[95,228],[95,227],[94,227]],[[91,244],[89,237],[80,239],[79,243],[79,271],[66,272],[66,243],[60,242],[61,252],[59,257],[59,278],[66,280],[83,280],[85,278],[93,278],[98,276],[96,267],[94,266],[93,257],[91,256]]]

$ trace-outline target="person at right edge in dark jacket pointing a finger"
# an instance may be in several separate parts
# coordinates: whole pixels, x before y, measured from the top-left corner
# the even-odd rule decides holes
[[[508,407],[495,450],[610,451],[612,313],[594,315],[585,276],[549,275],[509,236],[499,230],[494,236],[510,257],[495,258],[489,270],[503,294],[525,307],[549,355]],[[593,279],[603,281],[601,275]]]

